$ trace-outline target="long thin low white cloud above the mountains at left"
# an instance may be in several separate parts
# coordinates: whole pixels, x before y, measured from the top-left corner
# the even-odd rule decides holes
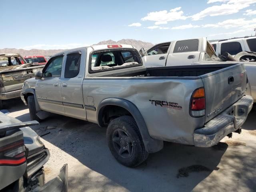
[[[70,44],[36,44],[36,45],[30,45],[25,46],[19,49],[42,49],[42,50],[49,50],[49,49],[72,49],[72,48],[78,48],[78,47],[84,47],[89,46],[88,44],[81,44],[81,43],[70,43]]]

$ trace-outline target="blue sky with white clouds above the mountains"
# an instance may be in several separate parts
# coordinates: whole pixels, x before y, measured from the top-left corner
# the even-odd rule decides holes
[[[256,0],[1,0],[0,48],[58,49],[255,34]]]

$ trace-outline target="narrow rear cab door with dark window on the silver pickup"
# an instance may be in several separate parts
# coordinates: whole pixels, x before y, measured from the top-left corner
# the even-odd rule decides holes
[[[85,61],[85,58],[81,57],[81,51],[73,51],[67,54],[65,68],[62,70],[61,94],[65,115],[86,120],[86,110],[82,94],[85,62],[81,63],[81,59]]]

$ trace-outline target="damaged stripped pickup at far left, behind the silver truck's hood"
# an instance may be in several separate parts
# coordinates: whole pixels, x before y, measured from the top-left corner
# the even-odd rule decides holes
[[[20,96],[25,80],[34,77],[36,71],[44,66],[27,63],[20,54],[0,54],[0,58],[6,59],[6,65],[0,66],[0,109],[3,100]]]

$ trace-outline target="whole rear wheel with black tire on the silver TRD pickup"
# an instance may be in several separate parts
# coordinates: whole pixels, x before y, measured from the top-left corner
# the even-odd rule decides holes
[[[110,152],[120,164],[136,167],[148,158],[138,126],[131,116],[112,120],[106,136]]]

